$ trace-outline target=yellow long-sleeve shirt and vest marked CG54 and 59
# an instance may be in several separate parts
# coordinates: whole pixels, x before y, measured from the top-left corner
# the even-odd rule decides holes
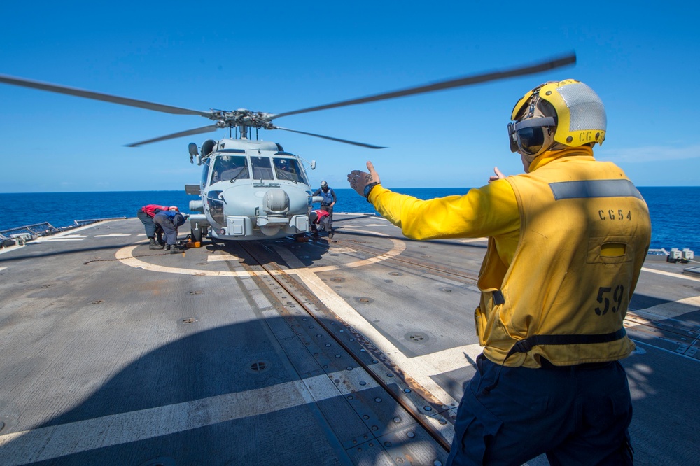
[[[545,165],[549,166],[537,172],[541,176],[532,174]],[[607,334],[617,335],[622,329],[621,319],[648,247],[650,227],[643,199],[618,167],[596,162],[587,147],[545,153],[531,164],[530,172],[493,181],[463,196],[426,201],[377,186],[370,202],[409,238],[489,236],[479,274],[482,303],[475,311],[479,340],[489,359],[539,367],[539,355],[557,365],[626,356],[633,345],[624,334],[612,342],[591,339],[601,334],[607,339]],[[565,195],[557,201],[561,190],[554,188],[557,183],[573,183],[579,190],[573,199],[566,200]],[[627,215],[611,222],[601,216],[604,211],[598,209],[603,206]],[[550,215],[542,216],[545,212]],[[572,242],[580,247],[572,248]],[[533,288],[532,283],[540,285]],[[598,318],[594,311],[600,297],[612,290],[617,306],[607,317]],[[607,310],[596,312],[605,316]],[[586,337],[590,344],[568,339],[566,345],[540,346],[528,356],[514,355],[505,362],[517,341],[535,334],[592,337]]]

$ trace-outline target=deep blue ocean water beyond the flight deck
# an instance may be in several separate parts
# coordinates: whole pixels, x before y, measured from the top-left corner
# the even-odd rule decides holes
[[[396,192],[419,199],[463,195],[469,188],[396,188]],[[639,188],[652,218],[651,248],[690,248],[700,254],[700,187]],[[377,213],[350,189],[336,189],[336,212]],[[184,191],[38,192],[0,193],[0,231],[34,223],[54,227],[73,225],[73,220],[135,217],[146,204],[176,205],[189,211]]]

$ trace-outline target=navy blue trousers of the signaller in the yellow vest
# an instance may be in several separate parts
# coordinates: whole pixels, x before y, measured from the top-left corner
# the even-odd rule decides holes
[[[619,362],[527,369],[479,355],[459,403],[447,465],[519,466],[542,453],[552,466],[631,465],[631,419]]]

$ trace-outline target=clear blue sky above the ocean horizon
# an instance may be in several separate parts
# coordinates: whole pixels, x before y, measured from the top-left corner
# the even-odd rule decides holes
[[[0,74],[208,111],[281,113],[556,57],[563,69],[291,115],[277,125],[371,150],[260,132],[346,188],[372,160],[388,187],[473,187],[522,170],[506,125],[545,80],[590,85],[608,111],[600,160],[640,186],[699,185],[700,33],[687,2],[3,2]],[[180,190],[187,146],[216,133],[124,145],[209,125],[0,84],[0,192]]]

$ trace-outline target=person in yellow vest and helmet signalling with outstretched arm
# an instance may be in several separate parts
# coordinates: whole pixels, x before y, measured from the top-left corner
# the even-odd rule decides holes
[[[348,175],[413,239],[489,237],[474,312],[477,371],[448,465],[631,465],[622,325],[649,248],[649,211],[622,169],[598,162],[605,108],[577,80],[515,105],[508,134],[524,174],[463,196],[420,200],[381,186],[372,162]]]

